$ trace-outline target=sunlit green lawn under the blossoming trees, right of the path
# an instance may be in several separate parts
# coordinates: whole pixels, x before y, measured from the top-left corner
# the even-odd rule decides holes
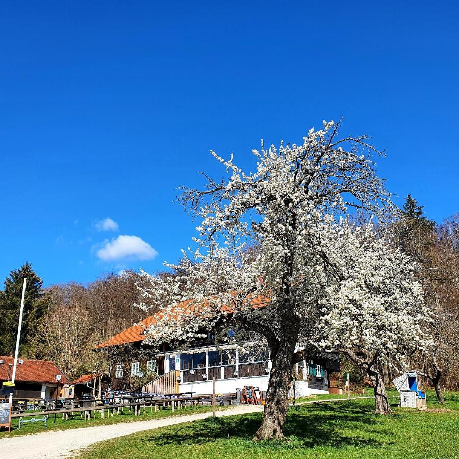
[[[428,410],[391,404],[393,416],[373,414],[374,400],[314,403],[291,408],[287,440],[253,442],[261,413],[207,418],[98,443],[80,459],[453,459],[459,448],[459,394]],[[318,400],[319,401],[319,400]]]

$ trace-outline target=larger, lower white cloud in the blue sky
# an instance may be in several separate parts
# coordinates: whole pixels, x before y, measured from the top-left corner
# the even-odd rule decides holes
[[[148,242],[138,236],[120,235],[111,241],[106,240],[101,249],[97,251],[97,257],[103,261],[121,259],[151,260],[158,252]]]

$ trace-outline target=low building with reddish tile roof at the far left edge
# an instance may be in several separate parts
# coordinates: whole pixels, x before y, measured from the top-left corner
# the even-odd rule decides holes
[[[13,357],[0,356],[0,383],[10,381],[13,375]],[[61,375],[58,382],[56,375]],[[62,371],[49,360],[18,359],[13,399],[55,398],[56,388],[61,391],[69,380]]]

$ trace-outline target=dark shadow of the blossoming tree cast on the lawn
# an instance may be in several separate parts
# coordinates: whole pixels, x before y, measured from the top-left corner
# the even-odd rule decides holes
[[[165,445],[203,445],[224,439],[251,441],[260,427],[262,413],[244,416],[206,418],[189,424],[155,432],[144,441]],[[313,448],[347,445],[378,448],[393,442],[380,441],[378,437],[389,433],[384,431],[382,419],[374,415],[368,406],[333,406],[322,403],[290,410],[285,433],[290,441],[258,442],[260,446],[269,443],[279,448]],[[377,433],[375,428],[377,428]]]

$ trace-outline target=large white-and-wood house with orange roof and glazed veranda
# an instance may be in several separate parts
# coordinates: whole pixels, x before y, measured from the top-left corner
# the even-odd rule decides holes
[[[157,313],[158,317],[161,313]],[[129,327],[97,346],[97,349],[116,350],[131,345],[131,355],[119,353],[111,370],[112,389],[135,389],[139,386],[138,373],[144,374],[144,392],[211,394],[213,378],[217,393],[235,393],[244,386],[268,388],[271,362],[268,350],[239,355],[236,345],[215,346],[214,336],[195,340],[184,350],[173,350],[167,344],[161,351],[153,351],[143,345],[144,330],[155,323],[157,315],[150,316],[140,324]],[[116,355],[116,351],[113,352]],[[295,366],[296,396],[327,394],[330,375],[339,371],[336,354],[320,354]],[[145,380],[151,381],[144,384]]]

